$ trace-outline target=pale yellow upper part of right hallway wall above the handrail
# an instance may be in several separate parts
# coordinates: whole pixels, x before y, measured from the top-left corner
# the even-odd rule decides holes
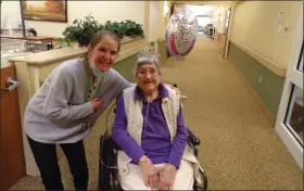
[[[230,38],[252,49],[276,64],[287,67],[294,41],[302,1],[244,1],[236,5]],[[278,14],[289,33],[278,33]]]

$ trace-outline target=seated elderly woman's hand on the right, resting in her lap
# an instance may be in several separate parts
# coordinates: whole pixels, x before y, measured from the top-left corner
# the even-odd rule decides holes
[[[168,163],[165,167],[160,171],[160,189],[161,190],[169,190],[175,181],[177,169],[176,167]]]

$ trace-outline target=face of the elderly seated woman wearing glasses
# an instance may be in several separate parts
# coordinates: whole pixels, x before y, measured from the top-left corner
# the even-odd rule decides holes
[[[142,65],[136,76],[137,85],[144,93],[150,93],[156,90],[161,82],[161,75],[154,63]]]

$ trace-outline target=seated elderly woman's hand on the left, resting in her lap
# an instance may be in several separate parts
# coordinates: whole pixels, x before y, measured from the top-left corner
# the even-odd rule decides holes
[[[151,189],[159,189],[160,180],[157,176],[157,169],[154,167],[151,160],[143,155],[139,160],[139,167],[141,168],[145,187],[150,187]]]

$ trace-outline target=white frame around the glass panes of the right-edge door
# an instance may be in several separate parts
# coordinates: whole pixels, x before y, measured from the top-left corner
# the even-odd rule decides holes
[[[292,130],[290,130],[289,127],[284,124],[286,116],[291,104],[290,100],[292,98],[292,91],[294,89],[293,85],[303,90],[303,72],[297,71],[297,65],[300,64],[300,62],[303,62],[303,58],[301,59],[301,56],[303,56],[303,52],[301,52],[301,50],[303,51],[303,21],[301,15],[303,15],[303,9],[301,9],[300,11],[275,129],[288,148],[291,155],[296,161],[300,168],[303,170],[303,145],[293,136]]]

